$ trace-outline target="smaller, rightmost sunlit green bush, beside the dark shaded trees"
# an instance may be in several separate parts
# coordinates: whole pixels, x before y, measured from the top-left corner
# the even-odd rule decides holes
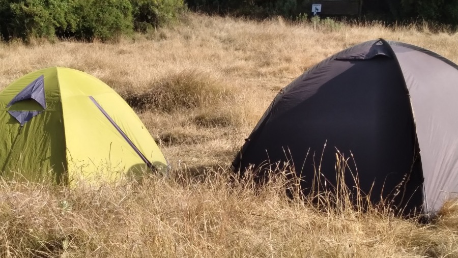
[[[134,28],[145,32],[177,20],[185,10],[183,0],[130,0]]]

